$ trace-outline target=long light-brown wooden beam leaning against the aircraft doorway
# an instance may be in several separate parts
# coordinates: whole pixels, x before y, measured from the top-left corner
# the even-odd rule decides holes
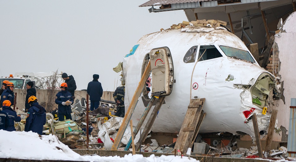
[[[136,89],[136,92],[134,93],[133,97],[132,97],[132,101],[130,102],[130,105],[128,106],[128,110],[123,118],[123,121],[122,121],[122,124],[118,130],[118,133],[117,133],[117,136],[114,140],[114,143],[113,143],[113,146],[111,148],[111,151],[115,151],[118,149],[119,147],[119,144],[120,144],[120,141],[123,137],[123,133],[125,132],[126,128],[128,127],[128,123],[132,117],[132,113],[133,111],[135,110],[135,107],[137,105],[137,102],[138,102],[138,98],[141,96],[142,94],[142,90],[143,90],[143,87],[145,86],[145,83],[147,81],[147,78],[149,77],[149,74],[150,74],[150,71],[151,71],[151,64],[150,64],[150,61],[148,62],[148,65],[142,75],[142,78],[139,82],[139,85]]]

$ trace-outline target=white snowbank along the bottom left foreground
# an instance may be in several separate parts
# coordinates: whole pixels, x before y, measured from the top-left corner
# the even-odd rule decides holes
[[[58,149],[58,148],[60,149]],[[58,141],[55,136],[43,135],[42,139],[33,132],[8,132],[0,130],[0,158],[33,159],[33,160],[74,160],[74,161],[127,161],[127,162],[194,162],[193,158],[162,155],[125,155],[119,156],[81,156],[72,151],[68,146]]]

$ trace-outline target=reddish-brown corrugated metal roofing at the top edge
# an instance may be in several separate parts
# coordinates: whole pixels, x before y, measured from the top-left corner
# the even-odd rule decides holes
[[[203,1],[212,1],[212,0],[150,0],[141,4],[139,7],[146,6],[159,6],[159,5],[168,5],[176,3],[190,3],[190,2],[203,2]]]

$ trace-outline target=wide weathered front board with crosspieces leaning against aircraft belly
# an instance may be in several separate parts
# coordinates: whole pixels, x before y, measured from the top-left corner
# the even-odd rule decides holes
[[[185,128],[194,127],[196,128],[198,124],[198,120],[200,118],[200,114],[202,111],[203,103],[200,105],[200,101],[204,101],[204,99],[192,99],[190,100],[189,107],[198,106],[195,108],[187,109],[179,136],[177,138],[175,149],[180,150],[182,152],[186,152],[188,147],[191,144],[192,137],[195,131],[183,131]]]

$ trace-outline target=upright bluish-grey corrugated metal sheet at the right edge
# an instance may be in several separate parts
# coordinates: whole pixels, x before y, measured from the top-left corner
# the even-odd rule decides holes
[[[296,98],[291,98],[291,105],[296,106]],[[290,121],[289,121],[289,135],[288,135],[288,156],[296,157],[296,108],[290,108]]]

